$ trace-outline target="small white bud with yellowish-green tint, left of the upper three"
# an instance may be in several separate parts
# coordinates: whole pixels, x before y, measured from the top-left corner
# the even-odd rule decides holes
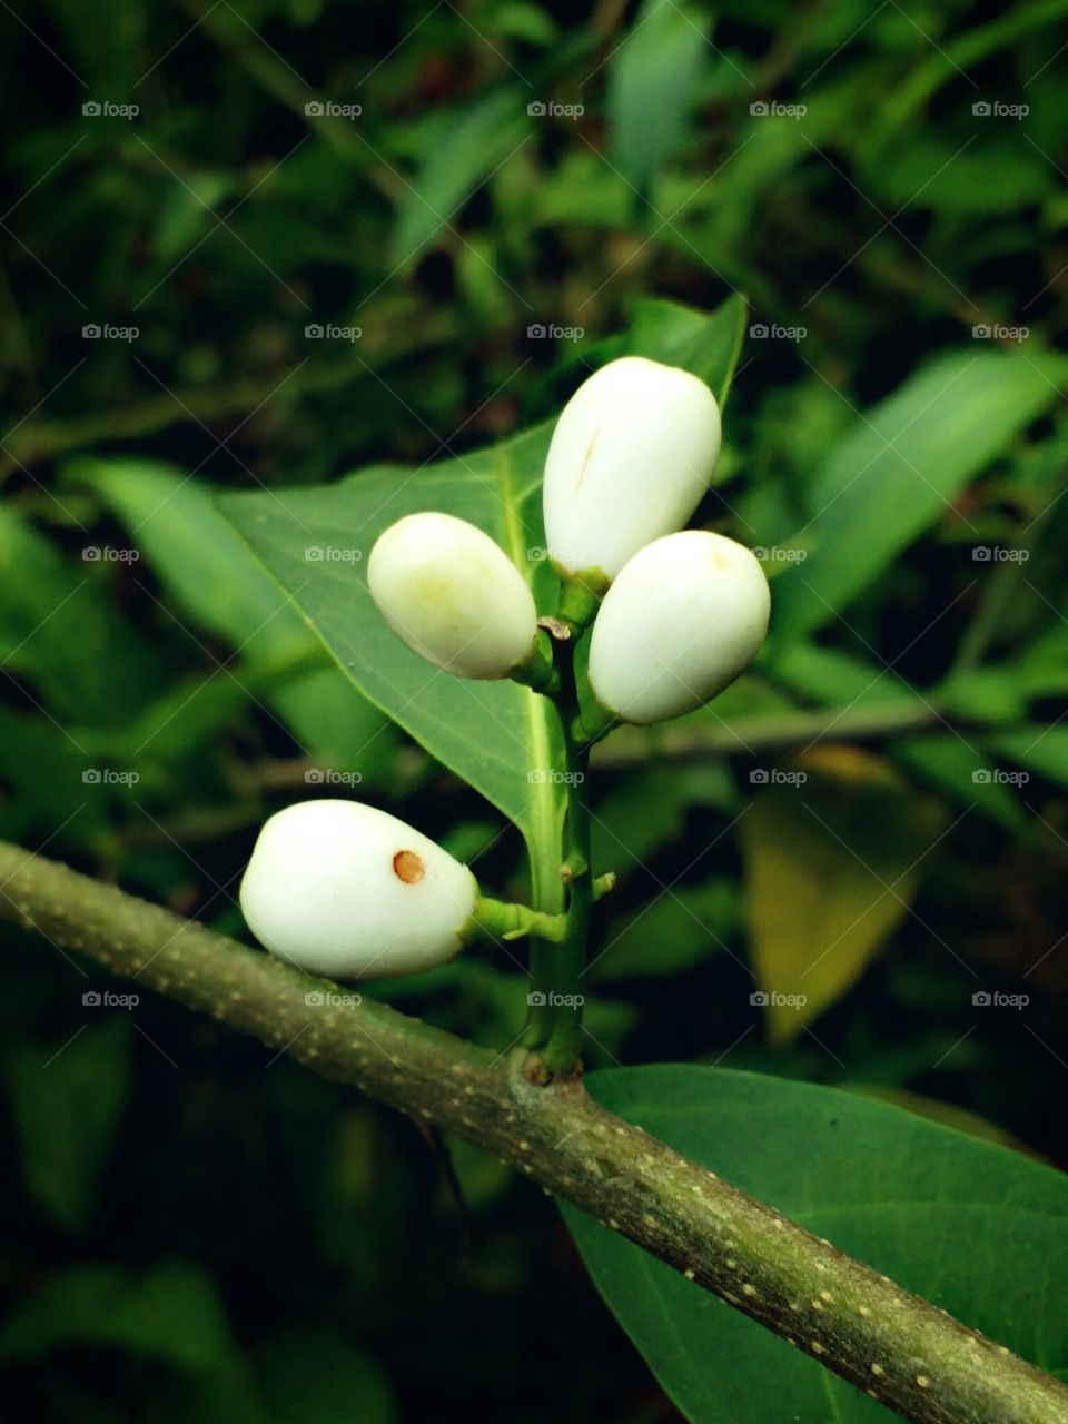
[[[507,678],[537,648],[521,574],[483,530],[451,514],[409,514],[370,551],[367,584],[393,632],[461,678]]]

